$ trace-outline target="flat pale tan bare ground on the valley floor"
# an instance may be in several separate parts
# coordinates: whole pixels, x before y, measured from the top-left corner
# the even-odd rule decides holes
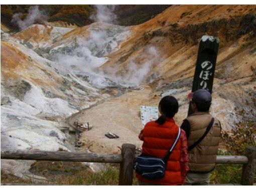
[[[81,133],[80,141],[93,152],[117,153],[123,143],[133,143],[141,147],[138,138],[143,128],[140,118],[140,105],[157,106],[161,97],[154,96],[152,89],[144,85],[142,90],[133,90],[119,97],[93,106],[72,118],[70,123],[78,121],[93,126]],[[119,138],[108,138],[107,132],[115,133]]]

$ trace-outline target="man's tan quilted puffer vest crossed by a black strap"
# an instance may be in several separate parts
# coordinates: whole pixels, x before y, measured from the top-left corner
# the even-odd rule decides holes
[[[212,116],[208,112],[195,112],[186,119],[190,124],[188,146],[191,146],[204,134]],[[220,122],[214,118],[213,125],[204,139],[189,151],[190,172],[209,172],[214,169],[220,134]]]

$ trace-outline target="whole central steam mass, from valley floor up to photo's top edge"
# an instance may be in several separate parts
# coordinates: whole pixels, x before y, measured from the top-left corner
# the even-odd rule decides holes
[[[113,22],[116,15],[114,5],[95,5],[96,21]],[[101,27],[102,26],[102,27]],[[68,66],[74,74],[86,76],[88,81],[98,87],[106,86],[138,86],[160,61],[158,50],[154,46],[144,47],[135,58],[125,62],[125,66],[116,64],[107,70],[99,68],[108,58],[106,56],[123,40],[127,27],[111,25],[105,28],[102,23],[91,24],[90,38],[76,39],[77,46],[68,54],[59,53],[55,58],[61,65]]]

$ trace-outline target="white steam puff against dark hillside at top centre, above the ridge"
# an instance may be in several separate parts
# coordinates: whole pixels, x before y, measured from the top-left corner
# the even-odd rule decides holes
[[[97,5],[94,5],[94,7],[97,9],[97,14],[92,15],[90,17],[94,21],[113,23],[113,21],[116,19],[116,15],[114,14],[115,5],[97,4]]]

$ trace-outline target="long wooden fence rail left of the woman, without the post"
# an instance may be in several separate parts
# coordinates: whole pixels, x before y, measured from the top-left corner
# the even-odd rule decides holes
[[[1,152],[1,159],[30,159],[51,161],[85,161],[103,163],[121,163],[120,154],[68,151],[17,151]]]

